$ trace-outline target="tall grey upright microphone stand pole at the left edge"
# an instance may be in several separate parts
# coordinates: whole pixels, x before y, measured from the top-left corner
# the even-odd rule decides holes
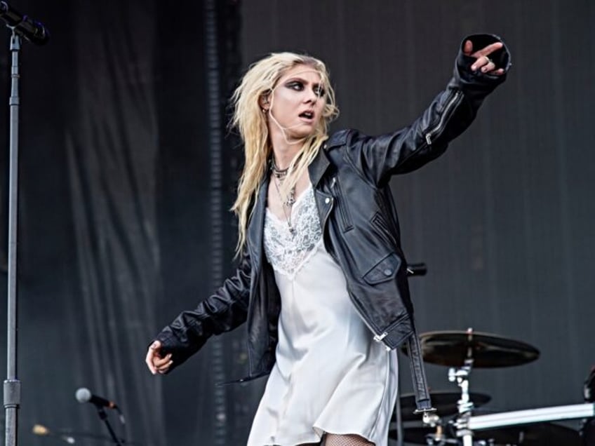
[[[18,225],[18,124],[19,124],[19,50],[20,36],[12,29],[10,105],[10,168],[8,184],[8,325],[4,409],[6,412],[5,445],[17,444],[20,381],[17,379],[17,225]]]

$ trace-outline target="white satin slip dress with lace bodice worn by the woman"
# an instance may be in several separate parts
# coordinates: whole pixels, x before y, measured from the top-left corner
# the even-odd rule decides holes
[[[375,342],[326,252],[310,185],[288,223],[267,210],[265,253],[281,293],[276,363],[248,446],[320,442],[356,434],[387,446],[396,400],[396,352]]]

